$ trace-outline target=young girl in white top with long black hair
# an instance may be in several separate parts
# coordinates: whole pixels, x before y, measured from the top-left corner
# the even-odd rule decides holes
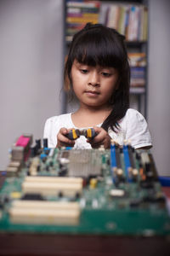
[[[65,63],[65,84],[80,106],[75,113],[46,121],[43,137],[48,138],[48,147],[110,148],[111,139],[119,145],[127,140],[134,148],[151,147],[144,117],[129,108],[130,68],[124,39],[114,29],[90,23],[74,36]],[[71,129],[89,127],[97,133],[94,139],[66,137]]]

